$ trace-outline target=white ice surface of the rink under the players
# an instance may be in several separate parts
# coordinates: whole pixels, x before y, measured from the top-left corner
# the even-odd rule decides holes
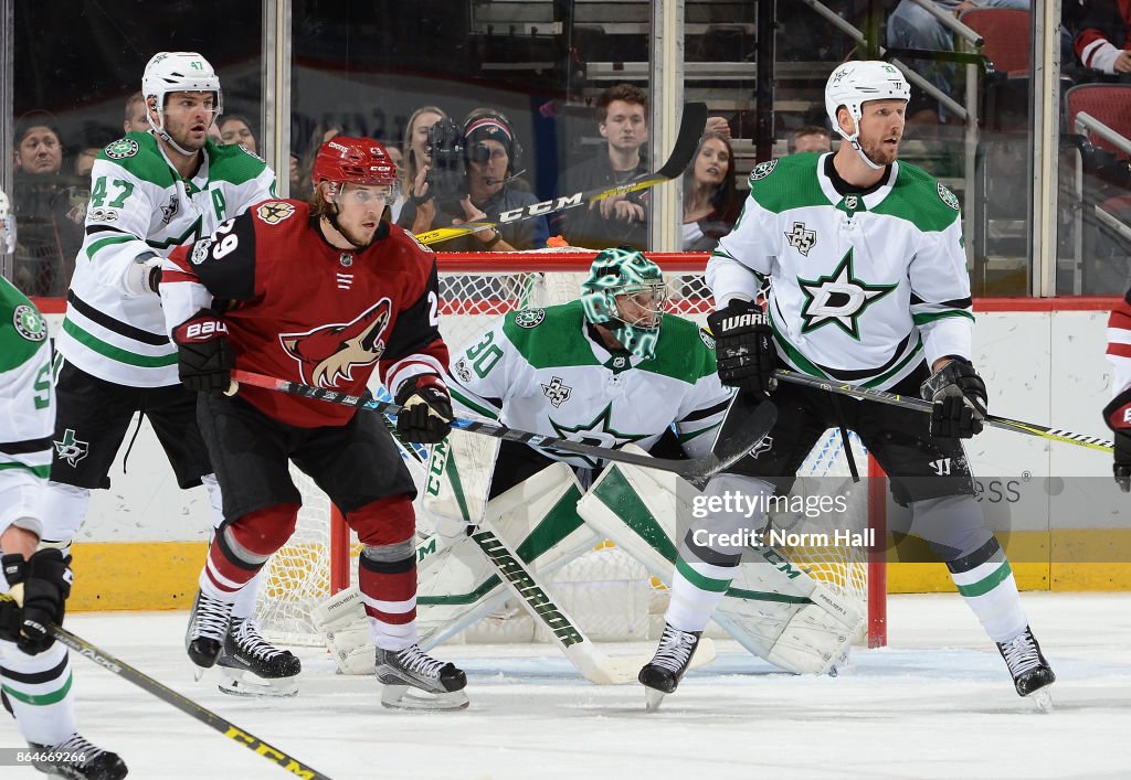
[[[718,659],[651,714],[640,686],[590,685],[549,645],[438,649],[467,671],[472,705],[418,714],[382,709],[375,679],[335,675],[316,650],[301,651],[294,699],[222,694],[215,671],[196,683],[185,613],[78,614],[67,625],[335,780],[1131,777],[1131,595],[1024,599],[1057,675],[1051,714],[1013,692],[957,596],[892,597],[889,647],[855,651],[837,678],[776,673],[716,642]],[[124,679],[72,665],[84,734],[121,754],[131,778],[286,777]],[[0,746],[21,746],[11,721]]]

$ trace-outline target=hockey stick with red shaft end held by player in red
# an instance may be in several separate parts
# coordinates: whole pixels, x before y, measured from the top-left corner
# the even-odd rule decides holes
[[[286,392],[292,396],[313,398],[314,400],[338,404],[339,406],[353,406],[362,409],[369,409],[371,411],[385,411],[395,415],[403,410],[403,408],[396,404],[360,398],[357,396],[351,396],[337,390],[316,388],[310,384],[288,382],[285,379],[265,376],[250,371],[235,370],[232,372],[232,380],[233,388],[228,389],[227,395],[232,395],[234,390],[238,389],[238,384],[243,383],[257,388],[274,390],[276,392]],[[741,404],[741,401],[739,404]],[[649,458],[648,456],[623,452],[608,447],[582,444],[568,439],[544,436],[537,433],[529,433],[528,431],[518,431],[497,423],[484,423],[464,417],[452,418],[451,426],[460,431],[478,433],[484,436],[493,436],[495,439],[506,439],[507,441],[520,442],[533,447],[552,448],[564,452],[588,456],[590,458],[601,458],[603,460],[655,468],[662,471],[672,471],[689,482],[702,482],[718,471],[722,471],[724,468],[750,452],[750,450],[752,450],[754,445],[762,440],[769,430],[774,427],[774,423],[777,422],[777,407],[768,401],[763,401],[753,407],[741,404],[732,407],[732,415],[735,416],[735,419],[733,423],[731,423],[729,418],[727,421],[731,423],[729,433],[724,431],[719,434],[718,441],[715,442],[715,451],[705,458],[697,458],[692,460]],[[742,422],[739,423],[739,419],[742,419]]]

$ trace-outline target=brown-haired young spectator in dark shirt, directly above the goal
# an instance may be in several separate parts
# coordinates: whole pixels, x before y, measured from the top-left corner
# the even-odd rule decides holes
[[[647,173],[640,147],[648,140],[648,96],[639,87],[619,84],[597,98],[597,131],[607,144],[597,156],[566,171],[559,196],[614,187]],[[555,232],[573,246],[645,250],[648,244],[648,190],[605,198],[588,208],[560,213]]]

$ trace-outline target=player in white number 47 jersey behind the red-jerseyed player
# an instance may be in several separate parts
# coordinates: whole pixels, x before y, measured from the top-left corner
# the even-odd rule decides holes
[[[110,486],[110,467],[136,413],[149,418],[178,485],[202,482],[216,525],[223,521],[219,487],[197,428],[197,393],[181,385],[176,348],[165,335],[159,266],[176,246],[274,197],[275,174],[243,148],[208,140],[223,93],[200,54],[154,55],[141,90],[150,131],[128,132],[94,163],[86,240],[57,343],[59,414],[44,541],[64,554],[90,491]],[[221,690],[291,693],[301,665],[259,635],[251,618],[254,598],[256,588],[248,588],[234,613],[221,660],[228,678]]]

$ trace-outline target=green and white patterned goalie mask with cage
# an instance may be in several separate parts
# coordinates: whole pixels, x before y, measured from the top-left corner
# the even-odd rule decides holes
[[[604,250],[581,283],[585,318],[608,328],[625,349],[645,359],[656,355],[666,302],[664,274],[637,250]]]

